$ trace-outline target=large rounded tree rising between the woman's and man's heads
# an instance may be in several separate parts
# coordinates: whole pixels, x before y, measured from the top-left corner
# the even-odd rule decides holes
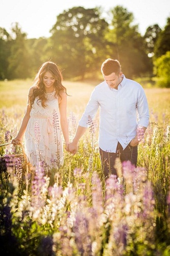
[[[51,52],[65,76],[83,79],[88,72],[99,71],[107,27],[99,8],[74,7],[57,16],[51,30]]]

